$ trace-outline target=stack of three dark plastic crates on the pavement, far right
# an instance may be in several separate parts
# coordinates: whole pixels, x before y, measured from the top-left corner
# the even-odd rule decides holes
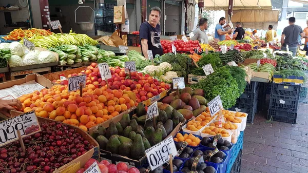
[[[272,84],[267,119],[296,123],[300,85]]]

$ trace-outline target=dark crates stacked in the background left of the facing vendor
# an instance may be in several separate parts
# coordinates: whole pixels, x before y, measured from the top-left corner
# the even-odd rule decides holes
[[[95,9],[95,35],[99,31],[114,32],[113,7],[115,4],[100,3],[99,9]]]

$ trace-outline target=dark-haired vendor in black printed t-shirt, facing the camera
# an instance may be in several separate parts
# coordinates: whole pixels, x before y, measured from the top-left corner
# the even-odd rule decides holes
[[[153,57],[156,54],[162,55],[163,48],[160,43],[160,17],[161,17],[161,9],[158,7],[153,7],[150,10],[149,20],[140,25],[140,45],[142,54],[146,59],[148,59],[147,50],[151,50],[153,53]]]

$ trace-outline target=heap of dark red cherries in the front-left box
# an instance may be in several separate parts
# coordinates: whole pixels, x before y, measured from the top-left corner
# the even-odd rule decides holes
[[[53,172],[93,148],[81,134],[60,122],[40,123],[41,132],[0,147],[1,173]]]

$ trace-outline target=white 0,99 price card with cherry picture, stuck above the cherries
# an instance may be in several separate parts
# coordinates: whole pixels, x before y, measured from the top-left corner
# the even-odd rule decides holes
[[[35,111],[1,121],[0,146],[18,140],[17,130],[20,130],[22,137],[41,131]]]

